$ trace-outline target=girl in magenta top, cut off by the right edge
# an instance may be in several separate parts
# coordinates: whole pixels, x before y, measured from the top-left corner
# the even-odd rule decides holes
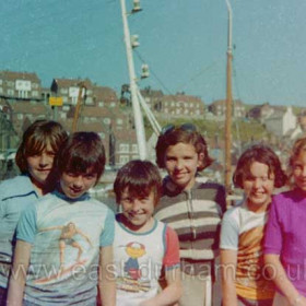
[[[306,138],[294,143],[289,169],[294,188],[273,198],[264,259],[278,287],[273,306],[306,306]]]

